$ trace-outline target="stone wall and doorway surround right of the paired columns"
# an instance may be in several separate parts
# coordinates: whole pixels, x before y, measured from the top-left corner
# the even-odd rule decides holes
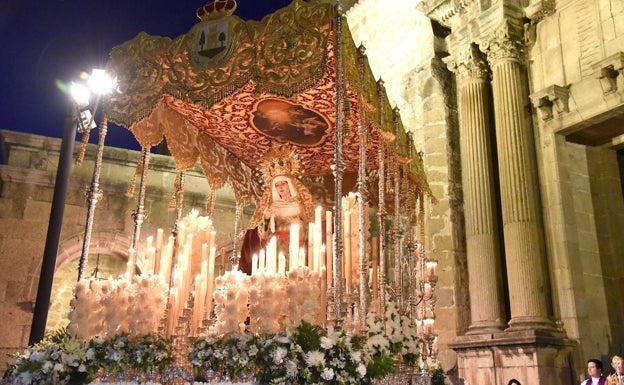
[[[624,229],[615,152],[624,132],[624,5],[556,1],[534,32],[527,35],[532,99],[548,95],[553,104],[533,103],[555,316],[580,342],[581,362],[606,358],[623,338],[613,293],[624,290],[615,251]]]

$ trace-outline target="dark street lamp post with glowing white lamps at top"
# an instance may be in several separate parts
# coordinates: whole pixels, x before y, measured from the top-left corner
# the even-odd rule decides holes
[[[92,75],[89,80],[89,88],[97,90],[98,92],[106,92],[106,81],[102,80],[106,77],[102,76],[97,70],[94,70],[93,74],[94,76]],[[91,80],[93,77],[95,77],[95,79]],[[110,79],[110,77],[108,78]],[[104,84],[104,86],[102,84]],[[109,81],[108,84],[110,84],[108,87],[108,92],[110,93],[112,84],[114,83]],[[41,341],[45,335],[48,310],[50,308],[50,297],[52,294],[52,282],[54,281],[54,270],[56,268],[56,257],[58,254],[63,215],[65,212],[65,198],[67,196],[67,188],[69,186],[72,168],[76,130],[78,126],[83,130],[85,127],[94,127],[92,115],[88,110],[84,110],[89,104],[89,88],[80,83],[72,83],[69,89],[71,104],[65,116],[63,127],[63,137],[61,140],[61,149],[54,182],[52,205],[50,208],[50,220],[48,222],[48,231],[43,251],[41,273],[39,276],[39,286],[37,288],[37,298],[28,340],[29,345]]]

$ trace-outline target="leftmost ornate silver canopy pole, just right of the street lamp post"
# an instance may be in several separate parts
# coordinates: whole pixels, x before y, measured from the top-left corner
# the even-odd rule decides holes
[[[108,132],[108,118],[106,112],[102,111],[102,121],[99,126],[98,149],[95,157],[95,165],[93,167],[93,178],[91,180],[91,188],[87,192],[89,207],[87,209],[87,223],[85,226],[84,239],[82,243],[82,253],[80,254],[80,262],[78,263],[78,281],[84,278],[84,272],[87,268],[89,259],[89,244],[91,243],[91,232],[93,231],[93,220],[95,216],[95,206],[102,199],[102,190],[100,190],[100,173],[102,169],[102,157],[104,154],[104,141]]]

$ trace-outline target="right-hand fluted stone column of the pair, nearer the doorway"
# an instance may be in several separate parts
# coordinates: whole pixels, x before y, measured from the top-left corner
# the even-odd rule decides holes
[[[551,329],[544,275],[533,135],[525,118],[521,45],[495,34],[481,43],[492,69],[503,236],[511,305],[511,329]]]

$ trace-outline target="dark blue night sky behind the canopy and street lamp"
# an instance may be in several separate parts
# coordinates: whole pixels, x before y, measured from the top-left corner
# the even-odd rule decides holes
[[[61,137],[67,99],[56,83],[103,68],[112,47],[144,31],[175,38],[200,20],[201,0],[0,0],[0,129]],[[238,0],[243,20],[261,20],[290,0]],[[92,135],[92,141],[97,135]],[[137,149],[124,128],[107,145]]]

